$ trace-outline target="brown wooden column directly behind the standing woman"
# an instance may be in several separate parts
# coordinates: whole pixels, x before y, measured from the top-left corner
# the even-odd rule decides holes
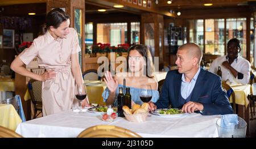
[[[81,47],[81,67],[82,71],[85,70],[85,1],[84,0],[47,0],[47,12],[51,11],[52,8],[65,8],[65,11],[69,14],[70,18],[70,27],[76,29],[79,39],[80,39],[80,47]],[[76,10],[81,10],[81,23],[79,25],[75,25],[77,14],[75,13]],[[79,28],[77,28],[79,27]]]

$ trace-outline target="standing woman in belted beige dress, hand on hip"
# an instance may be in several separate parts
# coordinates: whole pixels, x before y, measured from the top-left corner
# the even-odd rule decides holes
[[[76,30],[69,28],[69,24],[69,16],[60,8],[48,12],[41,35],[11,63],[11,69],[16,73],[43,82],[43,116],[71,109],[75,82],[77,86],[83,83],[78,57],[81,51],[79,40]],[[39,66],[46,68],[42,75],[23,67],[35,57]],[[89,106],[88,99],[82,104]]]

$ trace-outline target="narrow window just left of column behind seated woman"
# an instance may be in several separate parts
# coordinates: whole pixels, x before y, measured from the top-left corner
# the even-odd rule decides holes
[[[139,44],[141,39],[140,29],[139,22],[131,22],[131,44]]]

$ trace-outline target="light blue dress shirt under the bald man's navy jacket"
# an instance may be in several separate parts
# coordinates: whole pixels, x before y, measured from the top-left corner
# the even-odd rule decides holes
[[[189,96],[189,95],[191,94],[191,92],[193,91],[193,88],[195,87],[196,80],[197,80],[197,78],[198,78],[199,73],[200,73],[200,67],[199,67],[199,70],[197,70],[197,73],[195,74],[195,76],[193,77],[193,79],[191,80],[191,82],[186,82],[186,81],[185,81],[185,76],[184,76],[184,74],[182,74],[180,93],[181,93],[181,96],[182,96],[184,99],[187,99],[188,96]]]

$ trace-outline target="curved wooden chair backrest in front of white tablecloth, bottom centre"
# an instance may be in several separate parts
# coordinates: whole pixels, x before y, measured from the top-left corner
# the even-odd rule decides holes
[[[82,131],[77,138],[142,138],[137,133],[113,125],[96,125]]]

